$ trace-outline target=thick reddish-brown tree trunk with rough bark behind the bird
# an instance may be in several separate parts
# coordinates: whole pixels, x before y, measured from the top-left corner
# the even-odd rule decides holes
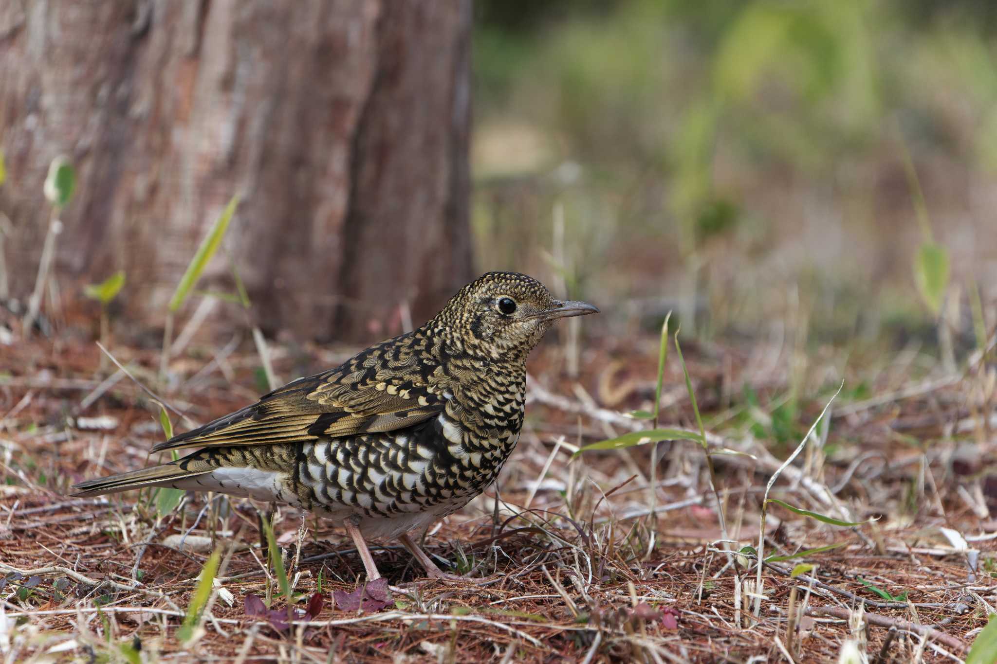
[[[368,336],[403,302],[418,323],[472,277],[470,0],[0,5],[12,294],[60,153],[79,180],[56,274],[124,269],[147,325],[235,192],[226,246],[270,332]]]

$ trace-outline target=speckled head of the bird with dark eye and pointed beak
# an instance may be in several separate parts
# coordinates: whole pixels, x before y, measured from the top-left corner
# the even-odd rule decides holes
[[[532,277],[489,272],[451,298],[434,323],[469,354],[514,361],[525,359],[555,320],[598,312],[555,299]]]

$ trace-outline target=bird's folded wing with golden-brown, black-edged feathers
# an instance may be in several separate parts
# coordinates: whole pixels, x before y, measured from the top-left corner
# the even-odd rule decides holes
[[[397,346],[386,342],[337,368],[293,380],[153,451],[308,442],[392,431],[439,414],[445,397],[429,383],[425,358],[420,365],[410,348]]]

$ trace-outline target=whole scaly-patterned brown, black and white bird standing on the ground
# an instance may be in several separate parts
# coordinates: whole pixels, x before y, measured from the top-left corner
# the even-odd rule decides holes
[[[526,356],[557,319],[597,313],[532,277],[486,273],[422,327],[153,447],[186,456],[73,495],[172,487],[289,505],[342,525],[369,580],[381,574],[367,540],[398,541],[430,578],[463,578],[412,534],[495,482],[522,428]]]

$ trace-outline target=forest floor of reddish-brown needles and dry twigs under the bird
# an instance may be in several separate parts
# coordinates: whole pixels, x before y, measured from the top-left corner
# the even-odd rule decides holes
[[[652,408],[658,339],[588,339],[575,378],[549,342],[530,360],[526,425],[498,487],[426,537],[491,582],[386,596],[364,585],[344,533],[282,509],[276,540],[310,607],[285,628],[247,600],[284,605],[247,501],[188,495],[161,515],[149,492],[66,497],[74,482],[158,461],[159,406],[137,382],[92,341],[0,345],[0,650],[8,662],[820,662],[854,642],[867,661],[964,659],[997,607],[992,361],[945,370],[916,350],[865,362],[819,350],[802,364],[792,344],[684,346],[710,446],[726,450],[711,456],[726,540],[695,442],[661,443],[656,469],[652,445],[572,460],[579,445],[650,427],[625,413]],[[200,423],[264,387],[258,357],[236,343],[174,358],[169,384],[157,352],[111,350]],[[281,346],[273,359],[287,379],[349,352]],[[698,430],[674,347],[664,378],[661,426]],[[774,475],[769,498],[862,524],[770,503],[763,556],[777,559],[758,586]],[[386,577],[419,579],[386,544],[375,551]],[[181,640],[212,549],[216,592]]]

